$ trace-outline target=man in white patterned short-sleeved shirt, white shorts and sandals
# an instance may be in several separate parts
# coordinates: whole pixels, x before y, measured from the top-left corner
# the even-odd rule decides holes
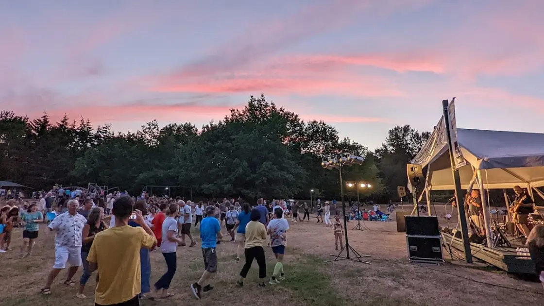
[[[51,284],[59,275],[60,270],[66,268],[66,262],[70,264],[65,285],[75,286],[72,280],[77,269],[81,266],[81,245],[83,227],[87,220],[77,213],[79,203],[77,200],[68,201],[68,211],[61,213],[48,225],[48,229],[55,231],[55,264],[47,276],[47,283],[42,288],[44,295],[51,294]]]

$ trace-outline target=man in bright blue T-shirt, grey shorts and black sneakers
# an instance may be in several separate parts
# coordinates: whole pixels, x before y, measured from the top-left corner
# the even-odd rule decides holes
[[[208,292],[213,289],[213,286],[209,284],[208,279],[212,278],[217,272],[217,252],[215,252],[215,246],[217,240],[221,239],[221,224],[217,218],[213,218],[215,215],[215,207],[210,205],[206,207],[206,218],[202,219],[200,223],[200,238],[202,239],[202,257],[204,259],[204,273],[200,277],[199,281],[191,285],[191,291],[193,295],[200,299],[202,292]],[[207,285],[204,285],[208,281]]]

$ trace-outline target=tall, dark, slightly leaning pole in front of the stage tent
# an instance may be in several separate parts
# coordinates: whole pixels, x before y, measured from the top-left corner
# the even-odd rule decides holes
[[[459,223],[461,224],[461,234],[463,237],[463,246],[465,249],[465,261],[468,264],[472,263],[472,253],[471,253],[471,242],[468,238],[468,226],[467,226],[467,219],[465,215],[465,201],[463,200],[461,205],[460,199],[463,199],[462,197],[462,189],[461,189],[461,177],[459,176],[459,169],[455,169],[455,158],[454,158],[454,151],[453,151],[453,143],[452,143],[452,131],[449,129],[449,101],[448,100],[442,100],[442,111],[444,113],[444,124],[446,125],[446,139],[448,141],[448,147],[449,147],[449,161],[452,165],[452,175],[453,175],[453,182],[455,184],[455,198],[457,199],[457,209],[459,212]]]

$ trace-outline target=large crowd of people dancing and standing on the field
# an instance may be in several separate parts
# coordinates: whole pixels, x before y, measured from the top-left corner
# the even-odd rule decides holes
[[[79,267],[83,267],[76,296],[86,298],[86,283],[95,274],[97,305],[137,305],[143,298],[160,300],[175,295],[169,288],[177,269],[176,250],[186,246],[186,239],[188,247],[196,246],[191,227],[197,226],[204,271],[201,278],[190,285],[196,298],[213,290],[211,280],[218,269],[217,244],[224,237],[238,244],[236,262],[240,262],[242,253],[244,255],[237,286],[244,286],[254,260],[259,267],[257,286],[277,284],[286,279],[283,256],[288,219],[309,222],[314,210],[312,205],[289,200],[259,199],[255,206],[241,198],[193,203],[145,192],[136,198],[126,192],[98,194],[61,187],[33,196],[36,199],[29,201],[9,199],[2,207],[0,252],[11,250],[11,232],[20,226],[24,227],[21,256],[29,256],[38,238],[39,224],[46,223],[47,231],[55,234],[55,259],[41,293],[50,295],[54,280],[66,268],[63,284],[76,286],[73,278]],[[315,211],[317,222],[333,226],[335,235],[343,232],[338,216],[334,224],[330,221],[328,202],[322,205],[318,201]],[[226,230],[226,234],[222,230]],[[338,240],[342,244],[342,239]],[[268,279],[265,245],[276,259]],[[150,252],[153,250],[162,253],[166,272],[151,285]]]

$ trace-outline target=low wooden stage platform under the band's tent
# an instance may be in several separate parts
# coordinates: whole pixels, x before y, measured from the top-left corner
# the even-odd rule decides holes
[[[442,233],[444,242],[448,245],[452,242],[452,248],[464,252],[463,241],[452,235]],[[516,247],[488,248],[471,242],[471,253],[474,258],[487,262],[501,270],[517,274],[535,274],[535,265],[530,256],[520,256],[516,253]]]

